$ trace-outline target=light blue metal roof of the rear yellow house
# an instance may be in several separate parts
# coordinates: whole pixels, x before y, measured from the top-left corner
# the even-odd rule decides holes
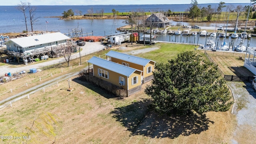
[[[112,58],[118,58],[120,60],[125,60],[127,62],[132,62],[134,64],[139,64],[141,66],[146,66],[150,61],[154,62],[153,60],[149,60],[146,58],[140,58],[138,56],[133,56],[130,54],[124,54],[121,52],[116,52],[116,51],[112,51],[110,50],[106,56],[110,56]]]

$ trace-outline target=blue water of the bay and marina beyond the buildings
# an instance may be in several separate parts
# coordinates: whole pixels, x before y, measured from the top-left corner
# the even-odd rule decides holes
[[[199,8],[207,7],[209,4],[198,4]],[[211,4],[212,8],[218,7],[218,4]],[[243,7],[249,4],[226,4],[232,5],[234,8],[238,5]],[[26,30],[24,24],[24,16],[22,12],[16,9],[17,6],[0,6],[0,33],[15,32],[17,34]],[[167,11],[172,12],[187,11],[190,7],[189,4],[173,4],[173,5],[94,5],[94,6],[34,6],[36,7],[35,16],[38,17],[38,22],[33,25],[34,31],[60,31],[62,33],[72,32],[72,29],[78,28],[82,30],[83,34],[93,32],[94,36],[105,36],[108,34],[115,33],[116,28],[126,25],[124,20],[59,20],[59,18],[50,18],[51,16],[62,16],[64,11],[72,9],[76,14],[76,11],[82,11],[82,14],[87,14],[87,10],[93,8],[94,12],[97,10],[104,9],[104,12],[112,13],[112,9],[119,12],[131,12],[138,9],[143,9],[145,12],[156,12],[156,11]],[[49,23],[46,24],[46,21]],[[215,24],[210,23],[186,23],[184,25],[194,25],[199,26],[214,26]],[[175,25],[175,22],[174,22]],[[218,24],[217,26],[223,26],[223,24]],[[28,24],[28,31],[31,28]],[[187,42],[187,43],[198,43],[205,44],[206,38],[194,36],[174,36],[174,35],[160,35],[158,40],[161,41],[175,41],[176,42]],[[224,41],[224,38],[216,38],[218,45]],[[227,38],[225,42],[234,42],[234,45],[239,42],[239,39]],[[245,44],[250,44],[250,46],[256,46],[256,40],[252,37],[249,40],[245,40]]]

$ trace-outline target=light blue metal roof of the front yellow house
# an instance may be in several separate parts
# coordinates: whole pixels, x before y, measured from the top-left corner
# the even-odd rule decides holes
[[[122,75],[128,76],[128,77],[136,71],[135,68],[124,66],[122,64],[117,64],[115,62],[111,62],[111,61],[108,61],[108,60],[105,60],[102,58],[98,58],[96,56],[93,56],[90,60],[88,60],[88,62],[91,64],[94,64],[96,66],[106,68],[107,70],[111,70],[113,72],[116,72],[118,74],[122,74]],[[137,71],[141,72],[140,70],[137,70]]]

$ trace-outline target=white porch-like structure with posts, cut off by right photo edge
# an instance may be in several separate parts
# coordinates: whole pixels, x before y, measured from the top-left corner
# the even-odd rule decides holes
[[[247,48],[244,59],[244,67],[256,75],[256,48]]]

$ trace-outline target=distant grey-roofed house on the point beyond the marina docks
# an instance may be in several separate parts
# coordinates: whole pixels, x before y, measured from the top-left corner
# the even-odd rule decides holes
[[[172,25],[172,20],[169,20],[163,13],[154,13],[146,19],[146,22],[152,23],[158,28],[163,28]]]

